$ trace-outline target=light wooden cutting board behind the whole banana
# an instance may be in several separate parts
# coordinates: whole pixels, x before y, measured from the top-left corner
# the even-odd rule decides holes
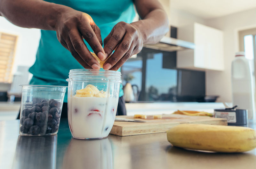
[[[116,117],[134,119],[133,116]],[[140,134],[162,133],[166,132],[173,126],[183,123],[228,125],[226,119],[208,116],[188,116],[181,114],[164,114],[162,119],[153,119],[153,115],[148,115],[147,119],[136,118],[136,120],[146,121],[146,123],[115,121],[110,134],[117,136],[132,136]]]

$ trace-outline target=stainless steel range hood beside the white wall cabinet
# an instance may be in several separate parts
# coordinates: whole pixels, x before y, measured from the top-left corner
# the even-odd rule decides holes
[[[160,42],[158,42],[156,44],[144,44],[143,47],[167,51],[167,52],[173,52],[173,51],[178,51],[178,50],[194,49],[195,44],[192,42],[164,36],[160,40]]]

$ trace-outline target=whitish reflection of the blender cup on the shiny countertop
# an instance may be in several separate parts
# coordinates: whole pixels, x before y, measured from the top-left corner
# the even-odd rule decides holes
[[[109,139],[72,138],[65,153],[62,168],[112,169],[113,157]]]

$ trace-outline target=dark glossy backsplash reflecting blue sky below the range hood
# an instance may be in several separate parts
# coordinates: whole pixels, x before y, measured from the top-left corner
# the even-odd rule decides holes
[[[171,37],[177,38],[177,28],[171,27]],[[176,52],[143,48],[137,58],[124,63],[122,77],[134,76],[130,83],[139,87],[138,101],[202,100],[205,96],[205,72],[178,69],[176,59]]]

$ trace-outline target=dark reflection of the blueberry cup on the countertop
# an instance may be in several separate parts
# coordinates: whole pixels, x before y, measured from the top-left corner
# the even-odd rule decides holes
[[[57,135],[19,136],[12,168],[56,168]]]

